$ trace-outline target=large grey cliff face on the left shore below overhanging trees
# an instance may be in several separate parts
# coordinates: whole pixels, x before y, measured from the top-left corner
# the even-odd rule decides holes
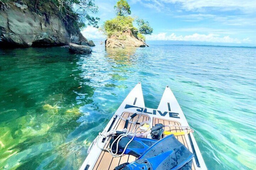
[[[0,10],[0,47],[68,45],[69,42],[87,44],[88,40],[80,32],[70,35],[56,15],[40,16],[27,5],[14,3]]]

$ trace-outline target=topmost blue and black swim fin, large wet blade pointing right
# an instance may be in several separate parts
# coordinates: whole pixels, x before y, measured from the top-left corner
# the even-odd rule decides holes
[[[145,169],[185,169],[191,168],[194,154],[174,135],[169,135],[149,147],[136,161],[126,165],[123,170]]]

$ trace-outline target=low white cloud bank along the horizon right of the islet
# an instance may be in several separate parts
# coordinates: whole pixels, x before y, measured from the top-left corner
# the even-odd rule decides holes
[[[176,36],[176,34],[172,33],[171,35],[167,35],[166,32],[162,32],[159,34],[152,34],[150,36],[146,36],[147,40],[171,40],[171,41],[196,41],[196,42],[219,42],[219,43],[249,43],[251,40],[249,38],[239,40],[237,38],[231,38],[229,36],[220,36],[218,34],[198,34],[194,33],[192,35],[186,36]]]

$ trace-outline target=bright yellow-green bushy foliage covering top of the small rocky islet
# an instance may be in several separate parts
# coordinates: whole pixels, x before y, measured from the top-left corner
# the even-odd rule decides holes
[[[105,21],[101,30],[108,37],[128,29],[130,29],[133,32],[136,29],[133,26],[133,21],[134,21],[133,17],[117,16],[112,20]]]

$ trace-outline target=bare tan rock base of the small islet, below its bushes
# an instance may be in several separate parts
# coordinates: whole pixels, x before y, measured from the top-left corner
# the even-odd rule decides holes
[[[125,47],[146,47],[146,43],[137,39],[130,30],[114,35],[105,40],[106,48],[125,48]]]

